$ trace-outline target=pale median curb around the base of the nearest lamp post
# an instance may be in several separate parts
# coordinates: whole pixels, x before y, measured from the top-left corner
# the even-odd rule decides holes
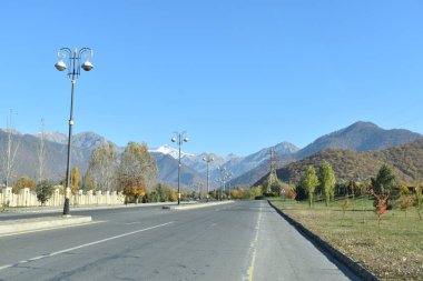
[[[37,219],[22,219],[13,221],[4,221],[0,223],[0,237],[9,234],[18,234],[20,232],[47,230],[59,227],[70,227],[91,222],[91,217],[46,217]]]

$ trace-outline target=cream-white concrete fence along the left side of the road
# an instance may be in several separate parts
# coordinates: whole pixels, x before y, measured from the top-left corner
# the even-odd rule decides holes
[[[45,203],[48,207],[63,205],[65,195],[60,194],[61,187],[55,187],[55,191],[51,198]],[[94,204],[124,204],[125,195],[116,191],[107,191],[104,194],[101,191],[92,190],[87,191],[83,194],[82,190],[78,194],[71,194],[69,197],[71,205],[94,205]],[[0,205],[3,207],[38,207],[41,203],[37,199],[37,194],[30,191],[28,188],[21,189],[19,194],[12,192],[12,188],[3,188],[0,193]]]

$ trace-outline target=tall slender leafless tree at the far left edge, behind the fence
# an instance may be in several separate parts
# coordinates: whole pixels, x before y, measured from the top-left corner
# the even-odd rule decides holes
[[[13,110],[10,109],[6,129],[7,138],[2,141],[0,150],[1,170],[6,187],[9,187],[10,180],[13,175],[14,160],[21,141],[21,136],[12,128],[12,113]]]

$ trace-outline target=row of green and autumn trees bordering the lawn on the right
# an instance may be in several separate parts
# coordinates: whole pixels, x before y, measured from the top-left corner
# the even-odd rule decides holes
[[[335,197],[343,199],[343,209],[348,205],[348,198],[370,197],[374,201],[375,213],[381,218],[387,210],[397,208],[405,212],[415,207],[419,218],[422,220],[423,210],[423,188],[421,180],[414,175],[414,187],[399,183],[392,168],[382,164],[377,174],[368,181],[356,182],[350,180],[338,183],[332,165],[327,161],[318,167],[317,171],[313,165],[308,165],[302,174],[297,184],[287,184],[279,179],[265,181],[262,189],[270,190],[265,195],[283,195],[295,200],[307,200],[309,208],[316,200],[324,201],[326,207]],[[267,189],[268,182],[272,182]]]

